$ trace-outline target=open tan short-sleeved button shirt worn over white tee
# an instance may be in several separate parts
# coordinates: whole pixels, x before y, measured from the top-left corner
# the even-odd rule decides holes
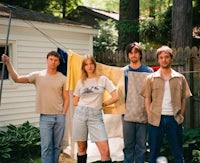
[[[172,69],[169,80],[173,115],[178,124],[183,122],[181,101],[192,96],[185,77]],[[147,76],[141,91],[143,97],[152,99],[148,123],[159,126],[162,111],[165,80],[162,79],[160,69]]]

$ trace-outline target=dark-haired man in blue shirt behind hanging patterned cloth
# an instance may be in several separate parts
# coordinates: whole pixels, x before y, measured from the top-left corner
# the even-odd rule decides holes
[[[151,73],[153,70],[142,64],[142,47],[139,43],[133,42],[127,45],[126,54],[130,61],[129,65],[123,67],[125,74],[125,95],[127,99],[128,93],[128,72],[146,72]],[[130,92],[131,93],[131,92]],[[140,96],[138,92],[138,96]],[[143,111],[138,111],[138,110]],[[130,111],[128,111],[130,110]],[[129,114],[135,112],[143,112],[140,121],[135,118],[127,119]],[[139,115],[138,115],[139,116]],[[126,104],[126,112],[122,115],[122,126],[123,126],[123,139],[124,139],[124,163],[144,163],[145,161],[145,153],[146,153],[146,130],[147,130],[147,118],[145,114],[145,108],[136,108],[133,110],[133,106],[129,106]]]

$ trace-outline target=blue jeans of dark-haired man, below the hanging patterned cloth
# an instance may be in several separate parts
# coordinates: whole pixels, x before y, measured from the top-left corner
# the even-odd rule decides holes
[[[124,137],[124,163],[144,163],[146,154],[147,124],[129,122],[122,116]]]

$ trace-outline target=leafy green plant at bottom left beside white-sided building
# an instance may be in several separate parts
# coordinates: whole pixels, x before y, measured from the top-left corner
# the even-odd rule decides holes
[[[12,124],[0,130],[0,160],[26,163],[40,156],[40,133],[28,121],[16,127]]]

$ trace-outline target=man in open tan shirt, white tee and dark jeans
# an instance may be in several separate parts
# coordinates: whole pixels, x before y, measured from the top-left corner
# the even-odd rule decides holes
[[[141,91],[148,116],[149,163],[156,163],[165,134],[174,163],[184,163],[182,123],[186,99],[192,94],[185,77],[171,68],[172,49],[162,46],[156,55],[160,69],[148,75]]]

